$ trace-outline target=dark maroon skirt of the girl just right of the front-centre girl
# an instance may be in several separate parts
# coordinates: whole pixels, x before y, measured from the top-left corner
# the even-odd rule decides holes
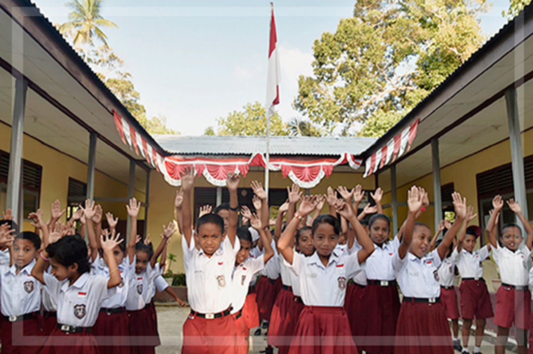
[[[400,313],[400,299],[396,282],[389,286],[372,284],[367,280],[361,297],[361,318],[366,328],[359,347],[369,353],[392,354],[394,335]]]

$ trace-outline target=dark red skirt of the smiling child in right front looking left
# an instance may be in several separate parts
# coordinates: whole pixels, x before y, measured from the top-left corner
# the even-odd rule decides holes
[[[394,354],[454,354],[442,302],[402,302]]]

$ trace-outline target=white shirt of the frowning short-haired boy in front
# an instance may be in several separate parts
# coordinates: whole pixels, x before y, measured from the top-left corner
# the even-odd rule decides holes
[[[231,274],[235,266],[235,256],[240,249],[239,238],[231,246],[229,237],[222,240],[220,248],[211,257],[195,247],[191,238],[190,246],[182,237],[183,264],[187,277],[187,298],[191,309],[203,314],[219,313],[231,305]]]

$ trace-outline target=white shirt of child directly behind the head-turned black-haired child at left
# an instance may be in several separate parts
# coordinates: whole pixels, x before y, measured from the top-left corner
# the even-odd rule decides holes
[[[118,308],[126,306],[128,291],[130,291],[130,282],[132,273],[135,273],[135,263],[130,264],[128,257],[124,257],[118,264],[118,272],[122,277],[122,283],[115,288],[109,289],[109,297],[102,302],[104,308]],[[109,279],[109,267],[100,255],[96,255],[94,262],[91,264],[91,274],[103,275]]]

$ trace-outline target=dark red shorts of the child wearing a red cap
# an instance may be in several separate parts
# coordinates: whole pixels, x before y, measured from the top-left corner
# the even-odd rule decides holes
[[[461,316],[463,318],[482,319],[494,316],[487,284],[483,280],[462,280],[459,291],[461,291]]]

